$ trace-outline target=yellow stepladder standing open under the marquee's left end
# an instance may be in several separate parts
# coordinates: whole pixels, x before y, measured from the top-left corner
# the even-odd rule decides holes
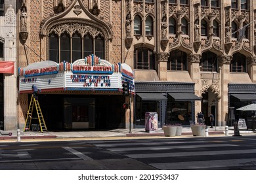
[[[33,106],[35,105],[35,109],[37,110],[37,119],[39,121],[41,132],[47,132],[47,127],[45,125],[45,120],[43,119],[43,114],[37,99],[35,99],[34,95],[32,95],[30,100],[30,107],[28,108],[27,118],[24,125],[24,131],[30,130],[32,114],[33,114]]]

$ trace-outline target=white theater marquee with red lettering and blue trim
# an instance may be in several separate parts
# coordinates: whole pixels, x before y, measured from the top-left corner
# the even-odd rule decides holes
[[[121,93],[122,84],[130,83],[134,93],[134,75],[126,63],[112,64],[96,56],[77,59],[74,63],[41,61],[19,68],[19,92],[31,93],[35,84],[41,92],[53,90],[104,90]]]

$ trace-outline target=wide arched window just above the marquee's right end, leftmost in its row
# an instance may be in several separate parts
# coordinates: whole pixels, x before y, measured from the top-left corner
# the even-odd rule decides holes
[[[153,51],[140,47],[134,50],[134,68],[135,69],[155,69],[155,57]]]

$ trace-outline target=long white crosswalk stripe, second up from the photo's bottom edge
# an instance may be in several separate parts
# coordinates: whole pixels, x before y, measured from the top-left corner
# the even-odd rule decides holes
[[[224,155],[224,154],[250,154],[255,153],[256,149],[252,150],[218,150],[218,151],[200,151],[200,152],[169,152],[169,153],[151,153],[151,154],[125,154],[129,158],[167,158],[167,157],[182,157],[182,156],[209,156],[209,155]]]

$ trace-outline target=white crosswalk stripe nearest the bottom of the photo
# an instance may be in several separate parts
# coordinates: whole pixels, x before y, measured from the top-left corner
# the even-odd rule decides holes
[[[221,160],[211,160],[211,161],[184,161],[178,163],[150,163],[152,167],[157,169],[167,170],[167,169],[215,169],[221,167],[243,167],[248,165],[255,165],[256,158],[248,159],[221,159]]]

